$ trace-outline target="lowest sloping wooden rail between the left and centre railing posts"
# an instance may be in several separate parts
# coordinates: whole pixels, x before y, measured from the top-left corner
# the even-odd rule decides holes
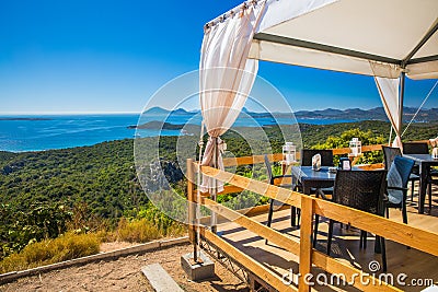
[[[298,291],[298,289],[293,285],[286,285],[280,279],[280,277],[278,277],[274,271],[268,270],[257,260],[240,252],[234,246],[227,243],[212,232],[206,229],[201,229],[201,236],[207,241],[209,241],[210,243],[212,243],[214,245],[216,245],[221,250],[227,250],[228,256],[230,256],[233,260],[245,267],[245,269],[257,276],[260,279],[266,281],[266,283],[273,287],[274,289],[285,292]]]

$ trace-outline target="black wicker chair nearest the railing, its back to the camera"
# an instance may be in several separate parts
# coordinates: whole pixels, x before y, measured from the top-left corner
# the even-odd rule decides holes
[[[385,190],[387,171],[338,171],[336,174],[333,189],[332,201],[361,210],[365,212],[383,215],[382,205]],[[335,221],[328,221],[327,255],[332,248],[333,225]],[[353,222],[354,223],[354,222]],[[319,215],[315,215],[313,245],[316,244]],[[367,232],[360,231],[360,247],[366,247]],[[376,240],[376,245],[380,243],[382,253],[383,271],[387,271],[387,255],[384,238]],[[378,249],[379,246],[376,246]]]

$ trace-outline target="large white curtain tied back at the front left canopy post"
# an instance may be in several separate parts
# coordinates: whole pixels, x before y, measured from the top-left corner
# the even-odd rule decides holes
[[[223,170],[219,136],[239,117],[251,92],[258,62],[247,59],[251,42],[265,9],[265,1],[242,8],[227,20],[207,27],[199,65],[199,102],[209,139],[201,165]],[[223,184],[203,176],[200,190],[221,191]]]

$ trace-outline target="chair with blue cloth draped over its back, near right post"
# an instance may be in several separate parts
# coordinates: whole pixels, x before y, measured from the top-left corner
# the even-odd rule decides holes
[[[388,187],[387,187],[387,198],[383,200],[387,210],[387,218],[389,215],[389,208],[401,208],[403,215],[403,223],[407,224],[407,212],[406,212],[406,194],[407,194],[407,183],[410,180],[410,175],[412,167],[414,166],[414,161],[395,156],[391,167],[388,171]]]

